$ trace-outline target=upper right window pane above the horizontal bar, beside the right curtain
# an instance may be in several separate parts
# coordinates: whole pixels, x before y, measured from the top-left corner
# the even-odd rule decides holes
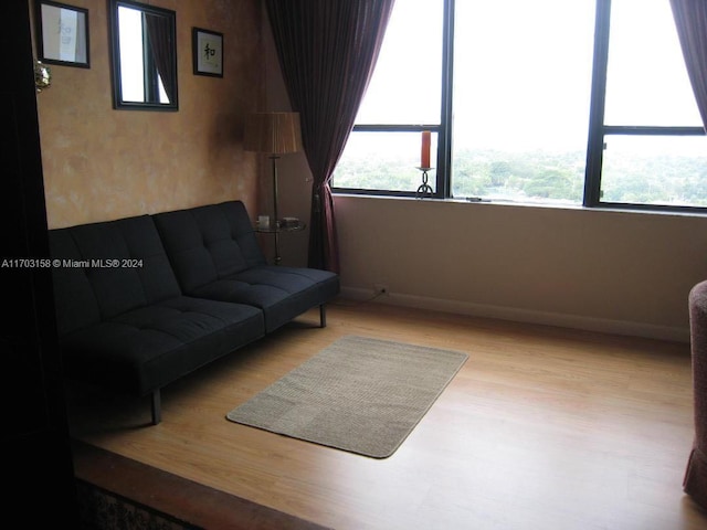
[[[613,0],[605,125],[701,126],[668,0]]]

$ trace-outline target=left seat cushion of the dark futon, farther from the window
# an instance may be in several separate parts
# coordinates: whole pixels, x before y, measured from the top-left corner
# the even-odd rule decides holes
[[[73,331],[60,344],[68,378],[145,395],[263,335],[256,308],[177,296]]]

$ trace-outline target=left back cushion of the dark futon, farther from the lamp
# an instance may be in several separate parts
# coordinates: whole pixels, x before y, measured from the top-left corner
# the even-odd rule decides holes
[[[181,295],[149,215],[50,231],[60,336]]]

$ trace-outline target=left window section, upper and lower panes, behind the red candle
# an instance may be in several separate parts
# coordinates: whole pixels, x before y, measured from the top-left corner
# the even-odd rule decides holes
[[[402,192],[420,182],[422,130],[442,123],[444,0],[397,0],[335,186]],[[434,182],[431,182],[434,186]]]

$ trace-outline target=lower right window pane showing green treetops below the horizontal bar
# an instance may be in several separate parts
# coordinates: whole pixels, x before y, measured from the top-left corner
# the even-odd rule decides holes
[[[602,201],[707,204],[707,137],[606,136]]]

